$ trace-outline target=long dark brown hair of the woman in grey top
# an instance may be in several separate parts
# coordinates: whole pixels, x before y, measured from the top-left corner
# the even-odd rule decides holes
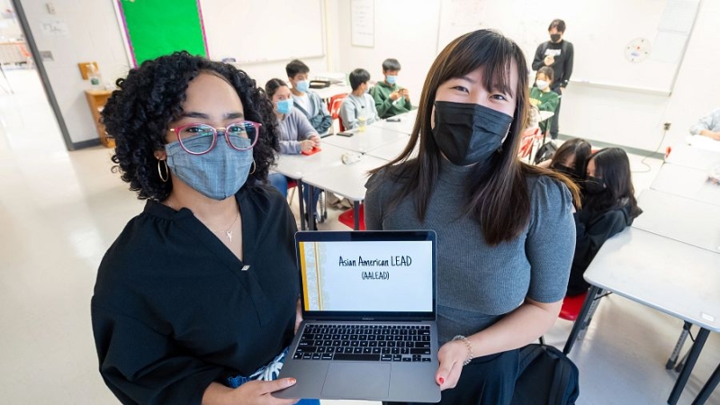
[[[518,87],[511,88],[509,71],[512,64],[518,68]],[[432,137],[430,115],[435,104],[437,88],[455,77],[462,77],[477,68],[483,70],[482,85],[514,94],[517,100],[514,120],[500,153],[494,153],[489,165],[475,165],[473,181],[467,184],[464,214],[482,224],[488,244],[516,238],[530,219],[530,196],[525,177],[548,175],[566,184],[579,203],[578,188],[564,175],[521,163],[518,159],[519,134],[527,126],[528,82],[527,62],[522,50],[513,40],[500,32],[479,30],[453,40],[433,62],[420,95],[418,120],[415,121],[410,142],[401,156],[385,166],[403,185],[392,195],[390,207],[408,195],[415,197],[420,219],[425,219],[428,203],[437,182],[440,168],[440,150]],[[419,142],[419,156],[410,159]]]

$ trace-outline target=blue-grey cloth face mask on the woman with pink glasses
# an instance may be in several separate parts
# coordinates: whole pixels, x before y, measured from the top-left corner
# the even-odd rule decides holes
[[[193,141],[204,143],[205,140],[200,138],[183,140],[185,148],[191,146]],[[250,139],[242,139],[241,142],[243,145],[237,145],[241,148],[249,147],[252,143]],[[187,153],[178,141],[168,143],[165,151],[167,167],[173,175],[196,192],[218,201],[238,193],[247,181],[250,166],[253,165],[252,148],[230,148],[225,137],[220,134],[215,147],[203,155]]]

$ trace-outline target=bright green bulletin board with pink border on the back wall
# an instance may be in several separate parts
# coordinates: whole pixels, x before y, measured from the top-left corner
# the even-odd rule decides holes
[[[187,50],[207,57],[198,0],[117,0],[135,66]]]

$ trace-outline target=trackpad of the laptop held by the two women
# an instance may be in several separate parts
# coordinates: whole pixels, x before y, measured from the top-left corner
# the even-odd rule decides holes
[[[388,363],[331,363],[322,395],[347,399],[387,398],[390,387]]]

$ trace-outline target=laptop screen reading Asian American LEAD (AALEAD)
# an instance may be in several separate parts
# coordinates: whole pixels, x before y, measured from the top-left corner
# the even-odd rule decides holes
[[[320,314],[435,311],[435,233],[298,232],[302,303]]]

